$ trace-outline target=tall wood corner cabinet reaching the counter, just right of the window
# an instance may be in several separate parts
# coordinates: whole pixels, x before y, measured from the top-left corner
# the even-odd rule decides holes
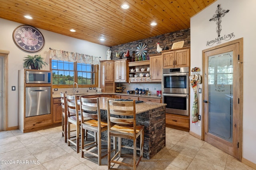
[[[114,92],[114,61],[100,61],[100,88],[102,92]]]

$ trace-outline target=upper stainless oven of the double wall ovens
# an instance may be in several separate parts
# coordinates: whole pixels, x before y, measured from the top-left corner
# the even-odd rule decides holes
[[[164,73],[162,82],[163,93],[189,93],[189,73]]]

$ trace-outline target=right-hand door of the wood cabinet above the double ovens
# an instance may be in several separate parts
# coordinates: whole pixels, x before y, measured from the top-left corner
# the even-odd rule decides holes
[[[175,67],[189,67],[190,49],[175,51]]]

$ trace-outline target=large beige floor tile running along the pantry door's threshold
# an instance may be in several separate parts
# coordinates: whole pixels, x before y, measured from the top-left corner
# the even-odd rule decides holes
[[[211,164],[226,166],[228,154],[219,150],[208,143],[204,143],[201,149],[196,154],[195,158],[207,161]]]

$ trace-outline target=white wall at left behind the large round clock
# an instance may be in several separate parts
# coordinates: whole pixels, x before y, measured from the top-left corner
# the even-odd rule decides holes
[[[45,45],[38,53],[27,53],[19,49],[12,40],[12,32],[19,25],[22,24],[0,18],[0,49],[10,51],[8,55],[8,127],[18,126],[18,70],[23,69],[23,57],[28,54],[40,54],[49,64],[49,47],[51,47],[98,56],[101,60],[106,60],[106,51],[109,49],[103,45],[39,29],[44,36]],[[43,70],[50,70],[49,66],[50,64],[46,68],[43,67]],[[16,91],[12,91],[11,86],[16,86]]]

